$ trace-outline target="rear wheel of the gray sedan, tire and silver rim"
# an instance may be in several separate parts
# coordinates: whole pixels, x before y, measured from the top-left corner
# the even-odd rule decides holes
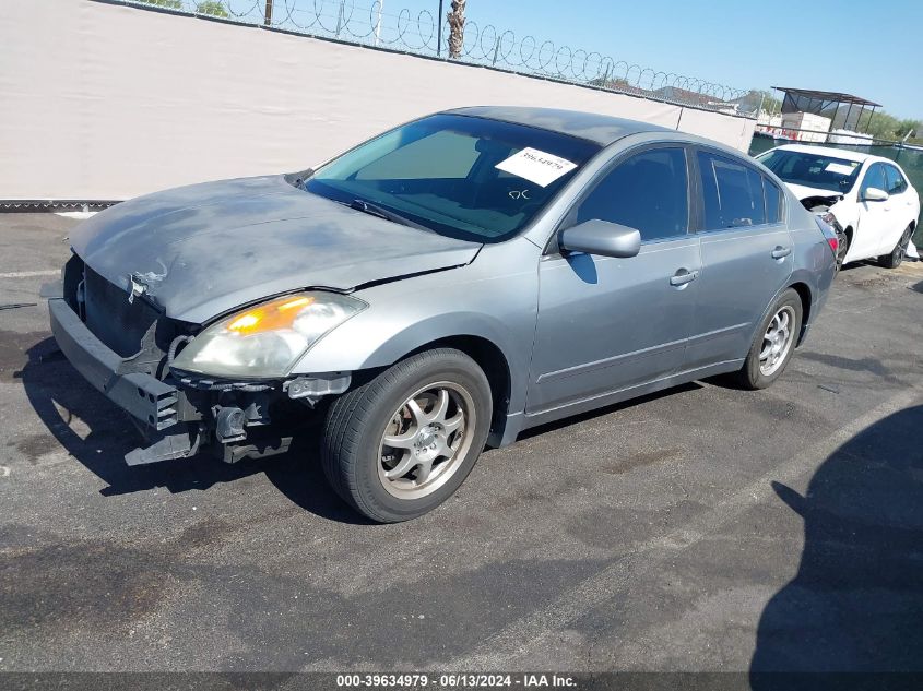
[[[754,338],[747,359],[737,372],[745,389],[766,389],[785,370],[795,349],[802,324],[802,300],[789,288],[769,310]]]

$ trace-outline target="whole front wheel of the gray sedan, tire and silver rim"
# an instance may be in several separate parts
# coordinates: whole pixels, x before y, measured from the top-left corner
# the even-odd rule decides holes
[[[468,355],[437,348],[398,362],[333,402],[321,464],[372,521],[415,519],[451,497],[490,429],[490,385]]]

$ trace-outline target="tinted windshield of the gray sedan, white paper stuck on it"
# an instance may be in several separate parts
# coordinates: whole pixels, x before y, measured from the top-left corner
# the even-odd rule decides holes
[[[437,115],[343,154],[304,188],[441,235],[498,242],[522,229],[599,150],[546,130]]]

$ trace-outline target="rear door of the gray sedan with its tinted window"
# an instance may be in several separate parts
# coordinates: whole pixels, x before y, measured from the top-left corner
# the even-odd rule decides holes
[[[784,195],[756,167],[698,148],[702,274],[685,369],[746,356],[757,322],[792,273]]]

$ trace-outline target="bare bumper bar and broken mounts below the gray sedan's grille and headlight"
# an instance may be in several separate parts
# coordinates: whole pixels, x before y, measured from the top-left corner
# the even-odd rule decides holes
[[[348,373],[340,372],[273,382],[227,382],[170,372],[166,361],[120,357],[64,299],[51,297],[48,311],[51,332],[67,359],[128,413],[150,442],[126,454],[129,465],[182,458],[206,446],[227,463],[282,453],[292,437],[275,431],[273,418],[281,413],[283,421],[297,419],[286,413],[297,408],[304,415],[321,397],[345,391],[351,381]],[[158,379],[156,372],[165,376]]]

